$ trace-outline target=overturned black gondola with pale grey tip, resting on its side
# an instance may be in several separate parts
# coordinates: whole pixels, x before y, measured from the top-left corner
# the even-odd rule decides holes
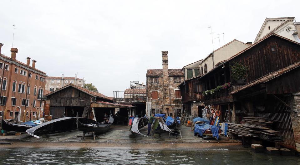
[[[27,129],[26,132],[31,136],[39,138],[37,135],[61,133],[76,129],[76,117],[64,117],[39,124],[38,126]]]

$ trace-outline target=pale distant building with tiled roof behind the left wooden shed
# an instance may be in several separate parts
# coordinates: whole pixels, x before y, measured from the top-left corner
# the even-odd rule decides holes
[[[77,78],[77,75],[75,75],[75,77],[64,77],[64,75],[62,75],[61,77],[49,76],[46,79],[46,89],[53,92],[54,90],[58,90],[59,88],[62,88],[71,83],[83,87],[84,78],[79,79]]]

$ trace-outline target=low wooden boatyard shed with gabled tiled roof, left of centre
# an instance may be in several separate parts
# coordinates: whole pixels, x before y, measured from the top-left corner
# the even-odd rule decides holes
[[[113,115],[119,111],[122,116],[128,116],[129,105],[113,104],[112,98],[86,88],[69,84],[45,95],[50,107],[49,114],[53,118],[64,116],[83,116],[97,121],[103,121],[104,113]],[[45,114],[46,115],[46,114]]]

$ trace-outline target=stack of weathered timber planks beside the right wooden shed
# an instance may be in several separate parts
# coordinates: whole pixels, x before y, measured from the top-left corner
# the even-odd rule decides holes
[[[257,137],[263,140],[278,142],[282,136],[272,130],[273,122],[270,119],[259,117],[245,117],[242,124],[228,124],[228,132],[244,137]]]

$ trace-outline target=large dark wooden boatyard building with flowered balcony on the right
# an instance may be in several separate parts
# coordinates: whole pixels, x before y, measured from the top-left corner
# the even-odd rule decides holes
[[[233,78],[234,62],[248,67],[242,82]],[[202,95],[197,101],[220,107],[221,122],[240,124],[244,116],[272,119],[273,129],[283,137],[280,144],[300,151],[299,62],[300,44],[271,34],[201,75],[195,82]],[[185,85],[181,89],[189,89]],[[224,121],[228,109],[231,113]]]

